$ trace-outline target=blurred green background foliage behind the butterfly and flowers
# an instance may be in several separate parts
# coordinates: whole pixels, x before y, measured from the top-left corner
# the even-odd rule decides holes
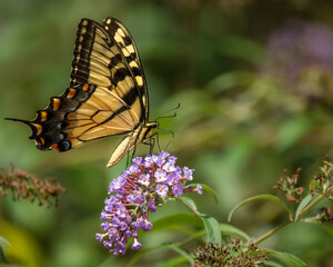
[[[213,187],[194,196],[202,212],[226,221],[242,199],[272,192],[283,175],[302,167],[306,185],[325,155],[333,157],[333,1],[331,0],[1,0],[1,117],[33,119],[69,86],[77,24],[114,17],[131,31],[143,62],[151,119],[175,138],[168,150],[196,169],[195,182]],[[0,199],[0,235],[21,266],[123,266],[94,239],[110,180],[117,138],[58,154],[42,152],[26,126],[0,119],[0,165],[54,177],[67,189],[58,208]],[[170,134],[160,130],[161,146]],[[145,146],[139,149],[147,154]],[[139,154],[140,154],[139,151]],[[158,218],[186,211],[170,202]],[[281,212],[280,212],[281,211]],[[240,209],[233,224],[259,237],[284,221],[273,204]],[[185,235],[184,235],[185,236]],[[182,240],[172,230],[145,233],[143,247]],[[293,225],[262,247],[295,254],[310,266],[333,266],[333,238],[315,226]],[[193,247],[188,249],[193,249]],[[198,244],[196,244],[198,245]],[[138,266],[173,257],[158,250]]]

